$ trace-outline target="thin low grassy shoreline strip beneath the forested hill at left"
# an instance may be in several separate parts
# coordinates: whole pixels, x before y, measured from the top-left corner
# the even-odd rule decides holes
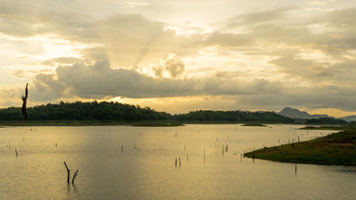
[[[177,127],[180,122],[170,121],[110,121],[110,120],[21,120],[0,121],[0,126],[103,126],[103,125],[132,125],[141,127]]]

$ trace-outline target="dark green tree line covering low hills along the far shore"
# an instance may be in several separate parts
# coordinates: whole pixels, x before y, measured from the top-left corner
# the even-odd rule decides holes
[[[292,118],[278,115],[275,112],[248,112],[241,110],[197,110],[185,114],[171,115],[167,112],[157,112],[156,110],[153,110],[150,107],[140,107],[139,105],[130,105],[122,104],[120,102],[105,101],[61,101],[58,104],[48,103],[47,105],[36,105],[34,107],[28,107],[27,114],[28,120],[178,120],[182,122],[294,122]],[[0,120],[23,120],[21,107],[7,107],[0,109]],[[318,122],[323,123],[323,121],[325,121],[327,123],[335,123],[335,120],[330,118],[320,120],[318,120]],[[337,123],[343,123],[342,121],[337,120]]]

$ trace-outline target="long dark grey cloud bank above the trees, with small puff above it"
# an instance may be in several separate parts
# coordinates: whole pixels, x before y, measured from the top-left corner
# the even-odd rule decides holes
[[[173,59],[173,60],[172,60]],[[169,57],[169,66],[179,65],[179,58]],[[177,66],[176,66],[177,68]],[[174,70],[177,75],[177,69]],[[75,63],[59,66],[56,74],[38,74],[34,80],[37,100],[51,98],[162,98],[187,95],[251,95],[253,93],[279,93],[281,83],[268,80],[224,80],[221,78],[153,78],[136,70],[110,68],[107,61],[94,65]]]

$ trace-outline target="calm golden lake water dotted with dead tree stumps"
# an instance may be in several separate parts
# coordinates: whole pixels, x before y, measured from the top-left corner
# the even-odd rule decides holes
[[[241,158],[332,132],[298,127],[4,127],[0,199],[356,199],[356,167]]]

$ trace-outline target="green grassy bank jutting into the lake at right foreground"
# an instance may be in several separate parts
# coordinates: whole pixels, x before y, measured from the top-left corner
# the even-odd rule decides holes
[[[246,157],[278,162],[356,166],[356,130],[335,132],[315,140],[248,152]]]

